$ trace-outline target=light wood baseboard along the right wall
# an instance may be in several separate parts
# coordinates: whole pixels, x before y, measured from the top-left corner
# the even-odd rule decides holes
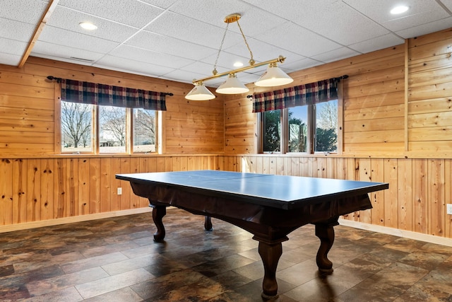
[[[452,246],[451,238],[444,238],[433,236],[429,234],[416,233],[412,231],[400,230],[398,228],[388,228],[387,226],[376,226],[370,223],[362,223],[358,221],[351,221],[348,219],[339,219],[339,223],[342,226],[351,226],[352,228],[361,228],[362,230],[374,231],[377,233],[385,233],[388,235],[409,238],[414,240],[425,241],[428,243],[436,243],[440,245]]]

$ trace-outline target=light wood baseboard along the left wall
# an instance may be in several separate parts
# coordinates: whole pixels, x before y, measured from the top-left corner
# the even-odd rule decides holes
[[[109,212],[105,212],[105,213],[96,213],[96,214],[88,214],[88,215],[81,215],[81,216],[49,219],[49,220],[43,220],[43,221],[30,221],[30,222],[24,222],[24,223],[18,223],[18,224],[10,224],[8,226],[0,226],[0,233],[28,230],[30,228],[42,228],[43,226],[57,226],[59,224],[64,224],[64,223],[73,223],[73,222],[104,219],[104,218],[117,217],[117,216],[126,216],[126,215],[132,215],[132,214],[141,214],[141,213],[146,213],[146,212],[150,212],[150,211],[153,211],[152,208],[145,207],[145,208],[122,210],[122,211],[109,211]]]

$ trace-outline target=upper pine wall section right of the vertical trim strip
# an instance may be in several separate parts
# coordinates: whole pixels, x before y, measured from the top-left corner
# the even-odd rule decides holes
[[[408,149],[450,156],[452,29],[408,40]]]

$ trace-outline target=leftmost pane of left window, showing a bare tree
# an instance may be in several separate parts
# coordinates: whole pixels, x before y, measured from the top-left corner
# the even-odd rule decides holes
[[[61,101],[61,151],[92,151],[93,105]]]

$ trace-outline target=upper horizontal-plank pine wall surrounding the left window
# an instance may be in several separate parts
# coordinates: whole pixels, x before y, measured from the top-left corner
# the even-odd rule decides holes
[[[60,150],[59,85],[47,76],[173,93],[163,112],[165,153],[223,153],[224,110],[220,98],[189,101],[193,86],[147,76],[125,74],[30,57],[23,68],[0,64],[1,157],[42,156]]]

